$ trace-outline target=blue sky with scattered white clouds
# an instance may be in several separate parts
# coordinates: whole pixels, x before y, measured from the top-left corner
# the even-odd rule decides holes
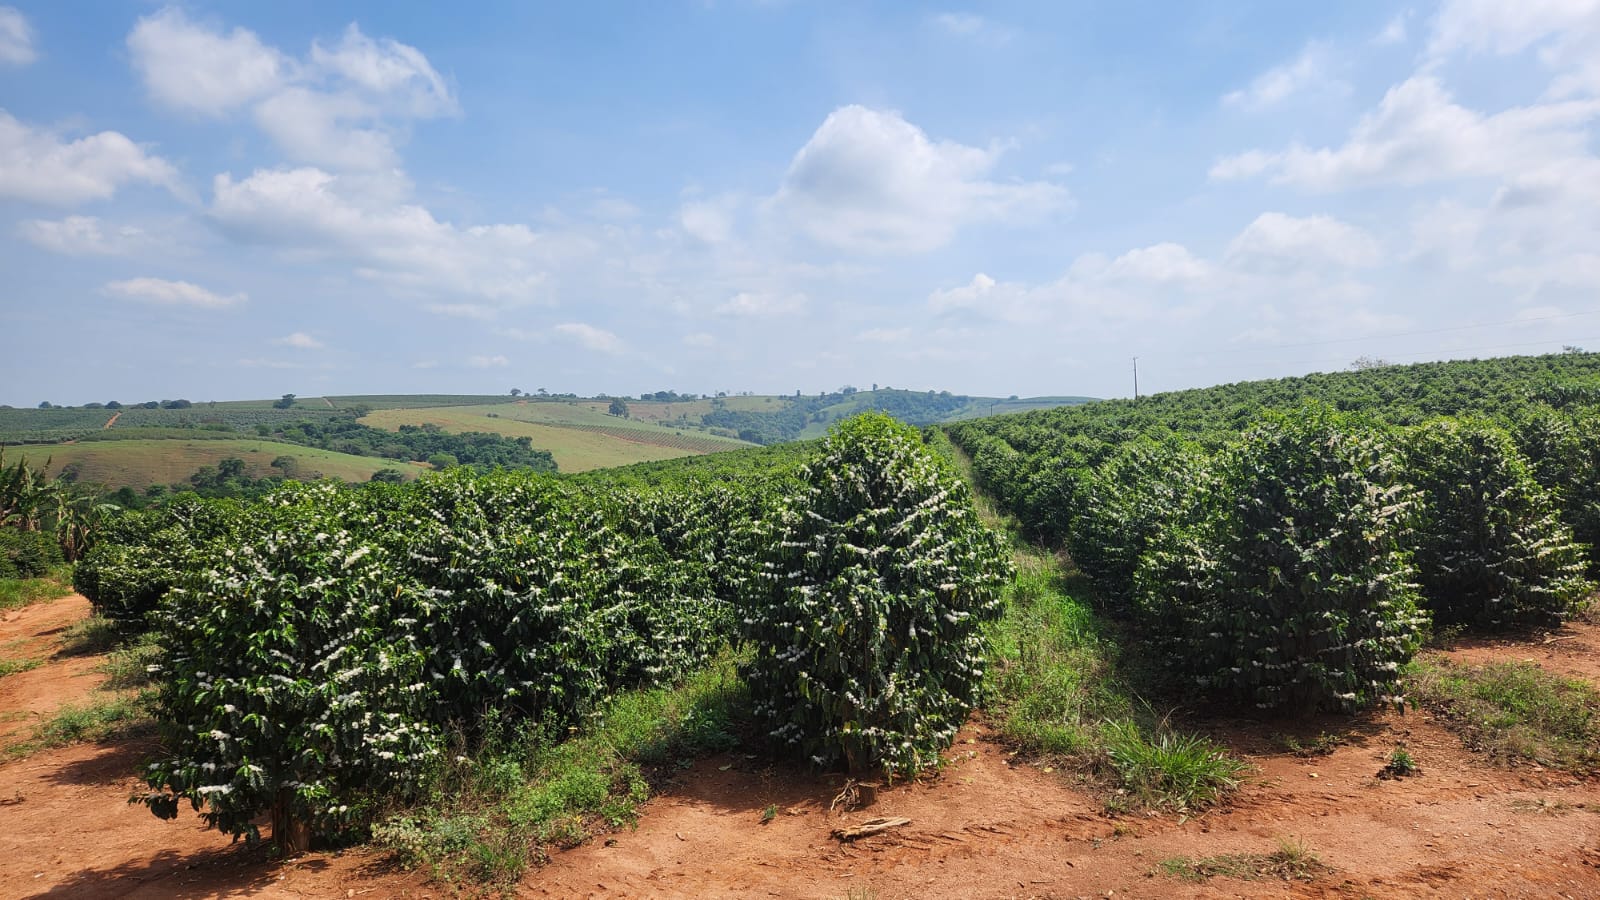
[[[1600,0],[0,6],[0,404],[1600,348]]]

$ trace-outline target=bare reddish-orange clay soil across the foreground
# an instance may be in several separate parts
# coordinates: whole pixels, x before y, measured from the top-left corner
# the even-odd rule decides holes
[[[80,597],[0,620],[0,652],[45,655]],[[1600,626],[1555,641],[1474,644],[1453,657],[1533,658],[1595,679]],[[11,642],[27,641],[19,652]],[[93,668],[93,661],[88,668]],[[0,679],[0,714],[82,701],[83,660]],[[77,673],[77,674],[74,674]],[[27,679],[29,681],[13,681]],[[48,687],[54,685],[54,687]],[[829,815],[837,777],[704,759],[662,786],[638,830],[558,854],[520,886],[528,897],[1600,897],[1600,781],[1536,767],[1496,769],[1422,713],[1374,714],[1331,754],[1301,759],[1274,729],[1222,724],[1258,765],[1226,810],[1197,818],[1101,815],[1070,773],[1013,764],[968,727],[936,780],[885,790],[870,809]],[[6,725],[6,727],[13,727]],[[1350,730],[1347,721],[1322,729]],[[1318,733],[1314,722],[1299,737]],[[1374,775],[1398,741],[1422,773]],[[149,745],[82,745],[0,765],[0,897],[442,897],[365,852],[274,863],[230,847],[192,815],[160,822],[126,798]],[[763,810],[778,815],[762,823]],[[869,817],[910,823],[856,844],[830,831]],[[1312,882],[1157,871],[1171,857],[1272,852],[1304,842],[1333,871]]]

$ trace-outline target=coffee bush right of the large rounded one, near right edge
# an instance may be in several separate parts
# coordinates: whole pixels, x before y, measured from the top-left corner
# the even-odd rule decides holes
[[[1422,492],[1416,564],[1435,625],[1560,620],[1594,585],[1510,436],[1480,420],[1437,420],[1405,439]]]

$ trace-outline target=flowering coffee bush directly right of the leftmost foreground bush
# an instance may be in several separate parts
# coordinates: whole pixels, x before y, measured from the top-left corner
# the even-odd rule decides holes
[[[405,496],[384,540],[429,596],[419,628],[440,722],[496,709],[566,724],[616,687],[686,674],[726,639],[725,604],[619,493],[458,471]]]

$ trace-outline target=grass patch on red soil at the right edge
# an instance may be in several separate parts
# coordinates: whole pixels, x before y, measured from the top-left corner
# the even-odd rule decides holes
[[[1600,770],[1600,692],[1533,663],[1485,666],[1419,660],[1410,695],[1467,746],[1507,764]]]

